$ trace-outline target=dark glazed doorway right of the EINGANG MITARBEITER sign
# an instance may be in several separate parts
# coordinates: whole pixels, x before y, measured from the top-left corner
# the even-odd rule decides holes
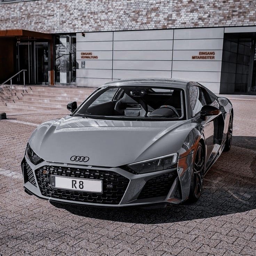
[[[256,33],[224,35],[220,93],[256,94]]]

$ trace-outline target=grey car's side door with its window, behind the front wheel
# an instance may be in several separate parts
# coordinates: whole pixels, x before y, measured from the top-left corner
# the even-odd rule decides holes
[[[199,86],[191,86],[189,88],[189,97],[192,117],[195,118],[202,126],[202,132],[205,136],[206,143],[206,167],[212,161],[212,152],[214,151],[214,120],[216,116],[208,116],[203,120],[200,111],[204,105],[212,104],[206,95],[206,91]]]

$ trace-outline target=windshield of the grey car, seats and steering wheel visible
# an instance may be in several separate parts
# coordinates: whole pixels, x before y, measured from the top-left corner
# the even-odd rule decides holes
[[[180,88],[103,87],[72,115],[97,119],[185,120],[185,95]]]

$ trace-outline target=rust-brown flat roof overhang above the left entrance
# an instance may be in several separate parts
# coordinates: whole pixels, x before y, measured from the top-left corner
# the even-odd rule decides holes
[[[53,36],[51,34],[23,30],[23,29],[11,29],[11,30],[0,30],[1,37],[19,37],[29,39],[48,39],[51,40]]]

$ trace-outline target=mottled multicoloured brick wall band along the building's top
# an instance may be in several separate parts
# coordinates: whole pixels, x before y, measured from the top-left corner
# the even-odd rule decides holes
[[[0,5],[0,30],[47,33],[256,25],[255,0],[37,0]]]

